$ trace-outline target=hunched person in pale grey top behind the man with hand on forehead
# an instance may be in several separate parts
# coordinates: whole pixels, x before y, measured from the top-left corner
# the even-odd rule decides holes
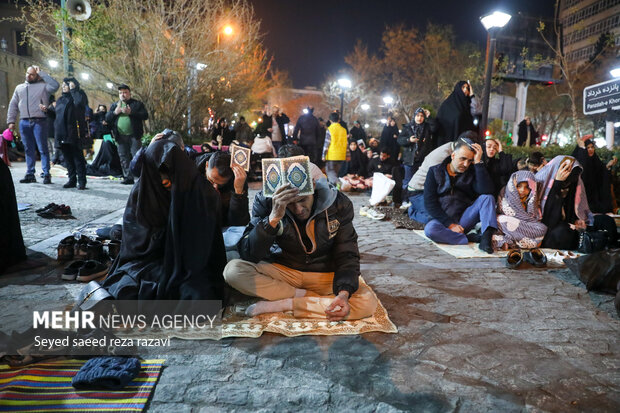
[[[472,131],[465,131],[461,133],[459,138],[467,138],[476,142],[478,140],[478,134]],[[454,142],[444,143],[429,153],[426,158],[424,158],[420,168],[418,168],[409,181],[407,185],[409,202],[411,203],[407,211],[409,218],[421,222],[422,224],[426,224],[432,219],[424,207],[424,182],[426,182],[426,175],[432,166],[439,165],[447,156],[452,155],[455,145],[456,140]]]

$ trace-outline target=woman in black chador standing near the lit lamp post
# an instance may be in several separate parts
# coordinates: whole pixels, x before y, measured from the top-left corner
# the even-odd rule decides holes
[[[457,82],[450,96],[443,101],[437,111],[436,147],[452,142],[465,131],[477,131],[471,115],[471,98],[465,96],[462,87],[467,83]]]

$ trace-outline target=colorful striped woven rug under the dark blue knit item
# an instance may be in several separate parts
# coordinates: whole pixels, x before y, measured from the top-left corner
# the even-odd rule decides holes
[[[48,361],[21,368],[0,365],[0,411],[140,412],[164,360],[143,360],[139,376],[120,391],[74,389],[71,380],[85,362]]]

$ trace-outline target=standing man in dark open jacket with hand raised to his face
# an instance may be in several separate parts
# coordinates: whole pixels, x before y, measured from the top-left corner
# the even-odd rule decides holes
[[[131,159],[142,146],[142,122],[149,118],[144,104],[131,97],[129,86],[122,84],[118,87],[119,101],[110,106],[105,120],[110,126],[116,145],[118,156],[123,168],[123,184],[133,185],[133,175],[129,169]]]

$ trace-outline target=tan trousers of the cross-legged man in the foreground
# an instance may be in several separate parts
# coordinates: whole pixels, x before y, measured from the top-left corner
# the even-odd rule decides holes
[[[224,268],[224,279],[243,294],[269,301],[293,299],[293,315],[297,318],[326,318],[325,309],[334,299],[333,272],[297,271],[284,265],[261,261],[254,264],[232,260]],[[304,297],[295,297],[295,289],[306,290]],[[347,320],[370,317],[377,308],[377,299],[360,282],[358,290],[349,298],[351,312]]]

